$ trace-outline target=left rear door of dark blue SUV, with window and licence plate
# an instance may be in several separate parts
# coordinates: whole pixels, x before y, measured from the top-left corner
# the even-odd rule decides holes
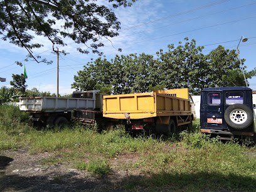
[[[208,92],[205,104],[205,127],[222,129],[224,120],[224,103],[222,92]]]

